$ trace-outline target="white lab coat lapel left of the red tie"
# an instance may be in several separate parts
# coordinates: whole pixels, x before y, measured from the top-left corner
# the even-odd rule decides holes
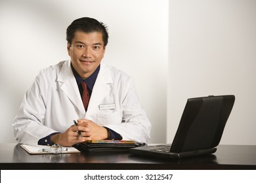
[[[85,108],[83,108],[83,103],[81,101],[75,76],[71,69],[70,61],[65,61],[63,63],[57,81],[61,83],[60,90],[62,90],[68,96],[75,107],[77,107],[82,113],[85,113]]]

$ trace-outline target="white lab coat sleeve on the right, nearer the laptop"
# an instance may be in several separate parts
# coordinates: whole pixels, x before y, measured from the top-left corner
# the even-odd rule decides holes
[[[119,133],[123,140],[148,142],[151,124],[144,108],[140,104],[133,78],[125,82],[125,90],[121,94],[122,122],[120,125],[106,125]]]

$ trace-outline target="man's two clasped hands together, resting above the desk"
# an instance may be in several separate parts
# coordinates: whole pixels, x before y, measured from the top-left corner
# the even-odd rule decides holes
[[[77,133],[81,131],[81,136]],[[91,120],[77,120],[77,125],[70,126],[64,133],[57,133],[51,137],[51,141],[62,146],[73,146],[87,140],[102,140],[108,138],[105,127]]]

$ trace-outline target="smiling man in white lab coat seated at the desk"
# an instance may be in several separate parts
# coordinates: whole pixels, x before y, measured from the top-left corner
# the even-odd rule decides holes
[[[100,139],[147,142],[151,125],[133,78],[101,62],[106,26],[79,18],[68,26],[66,39],[70,60],[37,75],[12,124],[16,141],[62,146]]]

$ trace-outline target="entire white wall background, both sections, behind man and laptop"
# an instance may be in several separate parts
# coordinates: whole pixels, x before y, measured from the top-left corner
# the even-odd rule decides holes
[[[1,0],[0,142],[14,142],[39,70],[68,59],[66,27],[81,16],[108,24],[104,61],[135,78],[150,142],[173,140],[187,98],[234,94],[221,144],[256,144],[254,0]]]

